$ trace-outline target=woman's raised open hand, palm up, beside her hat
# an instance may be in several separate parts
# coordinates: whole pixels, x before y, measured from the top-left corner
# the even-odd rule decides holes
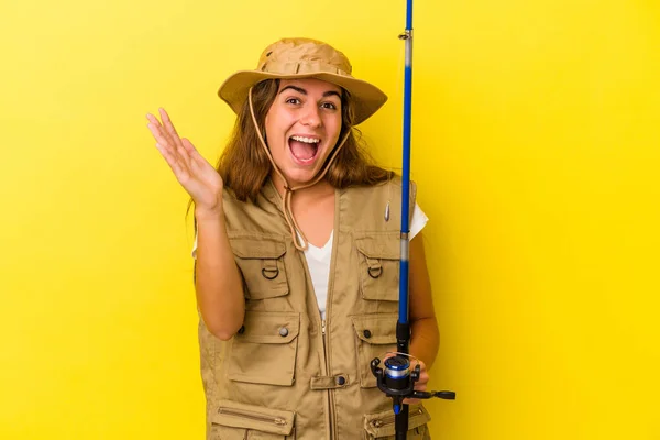
[[[195,201],[197,212],[220,213],[222,209],[222,178],[218,170],[199,154],[186,138],[179,138],[165,109],[158,109],[161,119],[148,113],[147,124],[156,148],[174,172],[177,180]]]

